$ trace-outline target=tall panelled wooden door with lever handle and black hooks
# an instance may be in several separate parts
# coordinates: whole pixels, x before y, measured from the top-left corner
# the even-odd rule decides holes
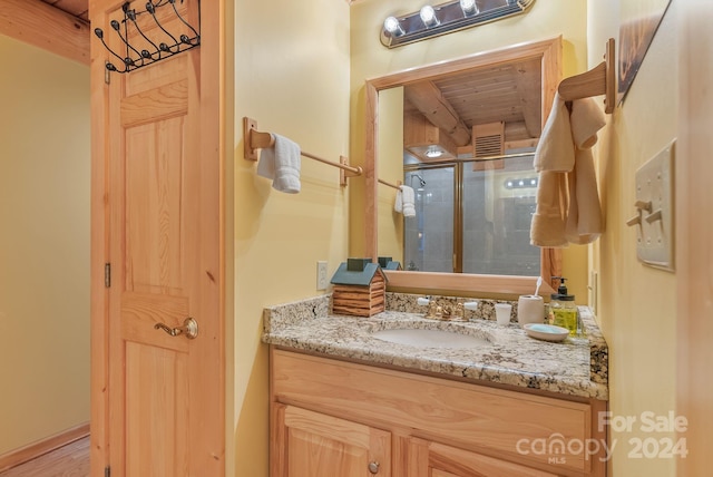
[[[162,3],[162,27],[180,31]],[[197,0],[176,7],[199,23]],[[217,18],[206,10],[204,29]],[[121,2],[92,1],[90,17],[121,51],[109,26],[124,18]],[[165,41],[150,14],[137,18],[145,35]],[[129,42],[146,46],[130,27]],[[100,250],[108,264],[106,289],[92,276],[92,475],[106,467],[121,477],[225,471],[219,119],[209,70],[217,50],[203,40],[109,75],[104,64],[117,59],[92,41],[92,260]],[[167,332],[188,318],[195,339]]]

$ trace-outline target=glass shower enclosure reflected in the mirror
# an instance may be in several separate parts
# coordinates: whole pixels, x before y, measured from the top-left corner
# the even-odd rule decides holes
[[[531,150],[512,156],[498,168],[471,159],[404,165],[416,208],[403,224],[406,270],[539,274],[540,250],[529,243],[537,174]]]

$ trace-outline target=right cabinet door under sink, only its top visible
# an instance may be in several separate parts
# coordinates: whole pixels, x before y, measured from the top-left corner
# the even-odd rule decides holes
[[[422,439],[410,439],[410,477],[556,477],[556,474]]]

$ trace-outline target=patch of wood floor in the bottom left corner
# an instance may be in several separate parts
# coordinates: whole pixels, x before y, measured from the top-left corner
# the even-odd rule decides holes
[[[87,477],[89,437],[0,473],[0,477]]]

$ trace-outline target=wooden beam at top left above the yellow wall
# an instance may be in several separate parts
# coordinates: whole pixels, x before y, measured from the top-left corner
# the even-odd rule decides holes
[[[89,65],[89,23],[39,0],[2,0],[0,33]]]

